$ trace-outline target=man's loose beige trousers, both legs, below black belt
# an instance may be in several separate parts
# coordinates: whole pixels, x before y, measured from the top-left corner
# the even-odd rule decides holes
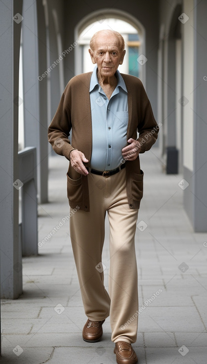
[[[112,341],[134,343],[137,337],[137,265],[134,235],[138,209],[126,197],[126,171],[104,178],[88,174],[90,212],[70,218],[70,235],[86,316],[101,321],[110,315]],[[104,287],[101,255],[105,216],[110,224],[109,294]]]

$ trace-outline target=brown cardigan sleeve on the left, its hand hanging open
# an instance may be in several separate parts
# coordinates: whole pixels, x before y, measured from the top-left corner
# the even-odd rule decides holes
[[[69,103],[64,92],[54,118],[48,127],[48,140],[55,153],[65,156],[68,160],[70,152],[75,149],[68,139],[71,127]]]

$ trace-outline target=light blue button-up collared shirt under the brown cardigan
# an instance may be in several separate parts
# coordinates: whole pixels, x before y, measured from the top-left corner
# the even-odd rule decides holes
[[[110,100],[97,79],[95,66],[90,80],[92,118],[91,168],[110,171],[122,164],[122,149],[127,145],[128,100],[124,79],[117,70],[118,84]]]

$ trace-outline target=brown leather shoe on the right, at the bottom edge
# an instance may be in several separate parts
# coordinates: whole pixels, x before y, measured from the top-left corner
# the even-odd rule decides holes
[[[115,343],[114,354],[117,357],[118,364],[135,364],[137,363],[137,356],[131,344],[125,341],[118,341]]]

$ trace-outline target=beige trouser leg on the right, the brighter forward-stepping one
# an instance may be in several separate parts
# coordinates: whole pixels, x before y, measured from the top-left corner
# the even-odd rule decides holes
[[[134,343],[138,325],[137,265],[134,247],[138,209],[130,209],[128,206],[124,170],[119,173],[119,181],[116,178],[111,181],[111,201],[108,218],[112,341]]]

